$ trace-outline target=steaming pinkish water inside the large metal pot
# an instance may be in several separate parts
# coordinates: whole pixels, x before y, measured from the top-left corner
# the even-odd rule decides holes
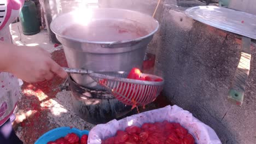
[[[68,37],[88,41],[132,40],[149,34],[142,23],[129,20],[92,20],[88,25],[74,23],[62,33]]]

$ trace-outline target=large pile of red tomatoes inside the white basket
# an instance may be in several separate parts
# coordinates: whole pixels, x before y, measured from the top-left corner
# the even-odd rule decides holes
[[[194,144],[194,137],[179,123],[167,121],[144,123],[141,128],[130,126],[117,131],[114,137],[103,140],[102,144]]]

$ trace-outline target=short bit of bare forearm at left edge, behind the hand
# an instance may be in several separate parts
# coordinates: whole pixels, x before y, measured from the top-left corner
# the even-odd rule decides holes
[[[0,44],[0,71],[10,72],[10,66],[15,57],[16,45],[13,44]]]

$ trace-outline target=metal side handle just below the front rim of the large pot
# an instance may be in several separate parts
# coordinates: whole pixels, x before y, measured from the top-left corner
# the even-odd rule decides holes
[[[124,40],[124,41],[115,41],[111,44],[102,44],[101,47],[103,48],[121,48],[121,47],[131,47],[138,43],[141,43],[142,39],[137,40]]]

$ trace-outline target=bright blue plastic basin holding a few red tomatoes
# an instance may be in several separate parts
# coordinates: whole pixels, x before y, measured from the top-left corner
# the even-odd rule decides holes
[[[70,128],[70,127],[60,127],[60,128],[56,128],[48,131],[47,133],[39,137],[39,139],[34,144],[46,144],[49,141],[55,141],[61,137],[65,137],[69,133],[75,133],[80,138],[84,134],[89,135],[88,130],[79,130],[79,129]]]

